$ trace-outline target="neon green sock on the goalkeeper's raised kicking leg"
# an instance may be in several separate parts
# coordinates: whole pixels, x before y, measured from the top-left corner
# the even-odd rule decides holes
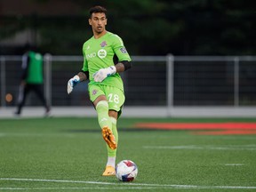
[[[102,129],[104,126],[108,126],[108,128],[112,131],[112,123],[108,116],[108,101],[100,100],[96,106],[96,111],[98,114],[100,128]]]

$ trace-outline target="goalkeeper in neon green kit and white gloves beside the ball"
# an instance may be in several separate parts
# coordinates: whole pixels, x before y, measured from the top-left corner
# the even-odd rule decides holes
[[[108,162],[103,176],[115,175],[118,133],[116,121],[124,105],[124,85],[120,72],[132,67],[131,58],[119,36],[106,30],[107,10],[101,6],[90,9],[89,24],[93,36],[83,45],[84,66],[68,81],[68,94],[79,82],[89,79],[90,100],[98,114],[103,139],[107,143]],[[118,63],[114,64],[114,55]]]

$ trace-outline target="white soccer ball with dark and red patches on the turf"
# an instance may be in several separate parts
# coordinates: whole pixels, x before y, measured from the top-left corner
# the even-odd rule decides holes
[[[131,160],[123,160],[116,164],[116,178],[121,181],[132,181],[137,177],[138,167]]]

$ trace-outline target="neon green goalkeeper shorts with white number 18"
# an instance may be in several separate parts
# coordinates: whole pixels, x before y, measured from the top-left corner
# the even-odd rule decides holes
[[[90,100],[93,102],[100,95],[105,95],[108,100],[108,109],[116,110],[118,116],[121,115],[122,108],[124,105],[124,92],[116,87],[100,84],[89,85]]]

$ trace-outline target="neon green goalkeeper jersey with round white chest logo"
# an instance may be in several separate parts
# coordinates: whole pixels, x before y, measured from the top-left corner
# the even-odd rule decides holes
[[[121,76],[108,76],[101,83],[94,82],[93,74],[100,68],[108,68],[114,66],[114,55],[116,54],[118,61],[131,61],[129,53],[124,47],[122,39],[116,34],[107,32],[104,36],[95,39],[94,36],[86,41],[83,45],[84,66],[83,71],[89,71],[90,84],[105,84],[115,86],[124,91],[124,85]]]

